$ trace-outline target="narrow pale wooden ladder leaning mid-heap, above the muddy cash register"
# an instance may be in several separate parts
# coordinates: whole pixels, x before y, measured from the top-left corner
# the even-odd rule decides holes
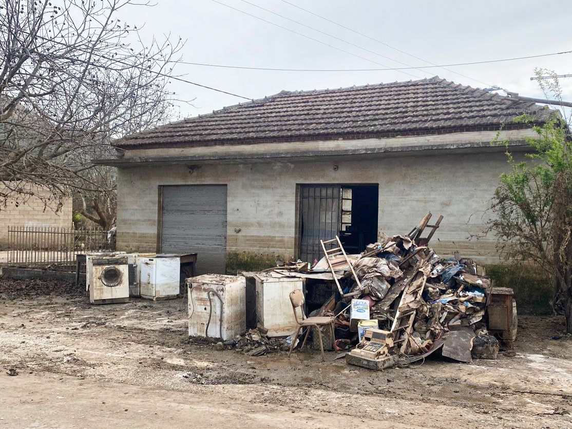
[[[411,338],[411,331],[415,323],[415,315],[417,314],[417,309],[407,308],[407,304],[421,299],[426,281],[427,274],[419,271],[411,284],[406,286],[403,290],[401,299],[399,300],[399,307],[395,312],[391,332],[393,333],[394,345],[402,343],[400,347],[400,352],[402,353],[405,353],[407,350]]]

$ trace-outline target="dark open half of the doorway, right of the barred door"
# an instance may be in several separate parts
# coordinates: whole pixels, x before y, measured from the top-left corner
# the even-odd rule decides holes
[[[341,185],[340,241],[348,255],[378,241],[378,192],[378,185]]]

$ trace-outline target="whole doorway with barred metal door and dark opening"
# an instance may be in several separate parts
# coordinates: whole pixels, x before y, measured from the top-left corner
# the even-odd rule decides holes
[[[300,185],[299,257],[320,260],[320,240],[336,235],[347,253],[378,239],[378,185]]]

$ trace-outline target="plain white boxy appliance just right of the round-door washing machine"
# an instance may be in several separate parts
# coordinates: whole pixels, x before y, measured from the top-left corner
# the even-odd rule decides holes
[[[142,298],[172,299],[179,293],[181,259],[178,257],[141,257],[140,293]]]

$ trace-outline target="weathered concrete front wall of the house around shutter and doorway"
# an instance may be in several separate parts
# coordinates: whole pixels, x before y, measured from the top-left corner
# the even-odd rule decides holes
[[[228,185],[228,252],[295,256],[296,184],[379,184],[378,234],[407,233],[428,211],[443,215],[432,247],[443,256],[495,263],[494,238],[468,241],[482,231],[498,177],[507,169],[502,152],[423,156],[345,157],[315,162],[205,164],[120,168],[117,248],[155,251],[158,186]],[[338,166],[334,170],[333,165]],[[240,232],[235,232],[239,231]]]

